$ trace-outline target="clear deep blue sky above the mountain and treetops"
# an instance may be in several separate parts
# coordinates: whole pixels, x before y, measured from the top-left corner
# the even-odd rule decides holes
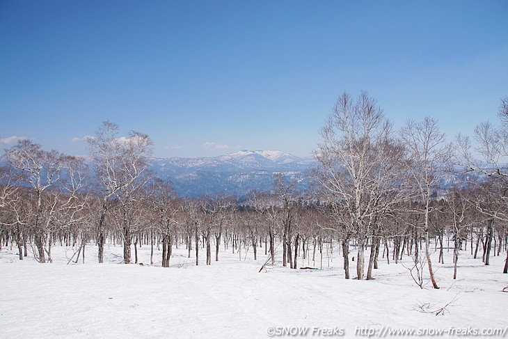
[[[396,126],[495,121],[508,1],[0,0],[0,146],[72,155],[103,120],[157,157],[310,155],[338,95]]]

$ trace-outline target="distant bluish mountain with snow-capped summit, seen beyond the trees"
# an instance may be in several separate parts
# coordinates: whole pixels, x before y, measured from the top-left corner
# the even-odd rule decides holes
[[[307,183],[312,159],[276,150],[242,150],[219,157],[153,158],[152,171],[169,179],[180,196],[213,194],[244,196],[253,190],[269,191],[274,175],[285,173]]]

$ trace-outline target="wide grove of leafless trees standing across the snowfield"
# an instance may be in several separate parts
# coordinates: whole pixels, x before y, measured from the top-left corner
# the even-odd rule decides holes
[[[201,250],[206,265],[219,261],[222,247],[239,258],[264,253],[260,266],[291,269],[300,262],[322,268],[324,251],[335,251],[345,278],[358,280],[374,278],[380,255],[388,264],[406,255],[415,283],[422,287],[426,274],[438,288],[434,267],[452,242],[453,278],[466,252],[484,265],[506,255],[507,273],[508,97],[498,117],[498,125],[481,123],[450,142],[433,118],[408,120],[397,131],[374,98],[344,93],[322,129],[311,187],[278,173],[271,191],[246,197],[177,196],[150,173],[150,137],[121,137],[110,122],[88,137],[88,158],[18,141],[0,167],[0,251],[15,246],[19,260],[33,255],[44,263],[61,244],[74,249],[69,262],[85,262],[92,244],[104,262],[105,244],[119,244],[129,264],[138,262],[139,246],[150,246],[153,264],[161,247],[161,265],[169,267],[173,246],[195,255],[196,265]]]

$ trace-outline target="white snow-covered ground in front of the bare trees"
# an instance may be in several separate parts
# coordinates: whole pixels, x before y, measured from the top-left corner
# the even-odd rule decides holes
[[[239,253],[221,248],[220,261],[211,266],[204,265],[201,251],[195,266],[185,249],[174,249],[169,268],[160,267],[160,251],[147,265],[148,246],[139,249],[144,265],[122,264],[121,246],[106,246],[101,265],[93,245],[85,264],[66,265],[72,248],[53,251],[54,263],[44,265],[33,256],[18,260],[16,249],[0,252],[1,338],[268,338],[298,331],[312,338],[390,338],[391,331],[410,329],[414,336],[424,334],[420,338],[434,331],[454,338],[457,331],[470,337],[502,329],[508,338],[505,255],[486,267],[462,251],[453,281],[452,250],[445,250],[445,265],[434,260],[440,290],[420,290],[402,264],[381,258],[375,280],[347,281],[340,253],[330,267],[325,257],[322,270],[279,263],[258,273],[264,250],[257,261],[252,249],[242,251],[240,261]],[[302,265],[319,262],[300,259]]]

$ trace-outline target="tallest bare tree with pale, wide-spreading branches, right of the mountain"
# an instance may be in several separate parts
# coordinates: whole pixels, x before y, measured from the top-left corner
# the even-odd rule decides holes
[[[376,100],[367,93],[360,93],[356,100],[343,93],[322,129],[322,143],[315,152],[317,178],[331,194],[335,214],[346,219],[339,221],[347,228],[344,246],[349,246],[349,235],[358,242],[358,280],[364,278],[364,250],[367,235],[379,218],[380,194],[392,189],[393,182],[387,179],[394,172],[383,164],[385,155],[379,156],[391,147],[390,126]],[[349,262],[344,262],[344,268],[347,265]]]

